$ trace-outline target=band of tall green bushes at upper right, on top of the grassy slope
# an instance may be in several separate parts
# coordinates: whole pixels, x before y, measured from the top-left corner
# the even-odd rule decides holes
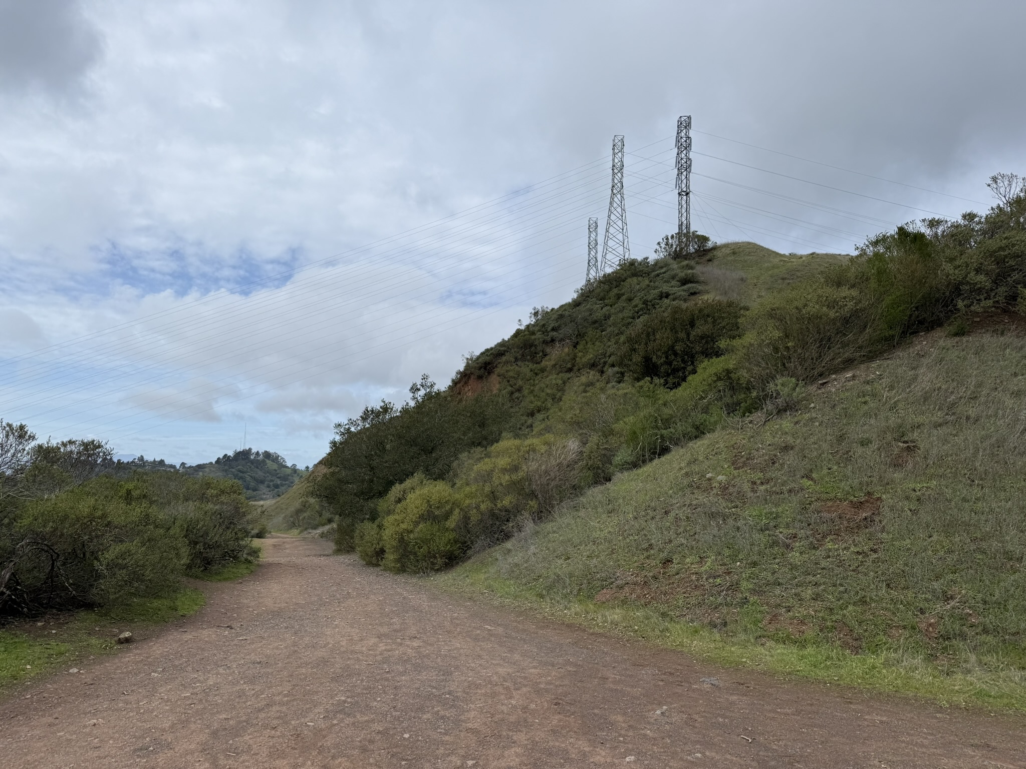
[[[924,219],[869,239],[845,265],[759,302],[738,342],[756,389],[812,381],[958,313],[1013,310],[1026,284],[1026,194],[986,216]]]

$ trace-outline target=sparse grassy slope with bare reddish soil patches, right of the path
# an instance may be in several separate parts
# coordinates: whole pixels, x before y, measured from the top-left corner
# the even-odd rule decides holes
[[[704,658],[1026,711],[1026,339],[917,337],[438,578]]]

